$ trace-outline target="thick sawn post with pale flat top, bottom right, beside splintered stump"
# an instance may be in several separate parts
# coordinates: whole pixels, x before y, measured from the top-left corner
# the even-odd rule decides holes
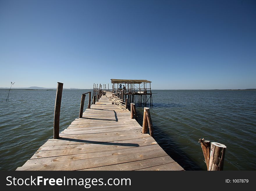
[[[221,143],[211,142],[211,151],[208,170],[223,170],[226,146]]]

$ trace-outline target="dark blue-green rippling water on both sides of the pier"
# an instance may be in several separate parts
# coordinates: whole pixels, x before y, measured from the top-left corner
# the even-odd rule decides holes
[[[61,131],[78,118],[81,94],[88,91],[63,90]],[[224,170],[256,169],[256,91],[153,93],[154,138],[184,169],[206,169],[199,138],[227,146]],[[15,170],[52,137],[56,90],[11,90],[9,102],[7,94],[0,90],[0,169]],[[141,124],[143,108],[137,113]]]

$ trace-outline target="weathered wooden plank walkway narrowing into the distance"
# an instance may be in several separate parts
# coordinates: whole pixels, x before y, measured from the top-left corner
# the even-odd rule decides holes
[[[184,170],[142,127],[102,96],[16,170]]]

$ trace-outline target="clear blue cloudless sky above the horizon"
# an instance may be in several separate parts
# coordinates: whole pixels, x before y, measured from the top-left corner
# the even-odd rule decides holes
[[[256,88],[256,1],[0,0],[0,87]]]

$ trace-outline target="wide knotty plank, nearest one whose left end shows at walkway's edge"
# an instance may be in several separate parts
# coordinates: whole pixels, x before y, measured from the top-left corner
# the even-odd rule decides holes
[[[150,145],[150,147],[154,146],[158,145]],[[149,146],[144,146],[144,149],[141,149],[143,147],[138,147],[139,149],[119,149],[118,152],[97,152],[98,155],[95,153],[86,153],[70,156],[30,159],[22,166],[22,168],[19,168],[19,170],[81,170],[167,156],[161,147],[159,149],[159,146],[157,148],[150,149],[150,152],[148,152],[148,147]]]

